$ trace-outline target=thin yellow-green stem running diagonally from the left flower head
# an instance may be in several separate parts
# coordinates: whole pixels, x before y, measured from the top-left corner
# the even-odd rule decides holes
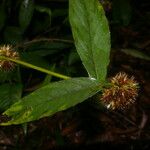
[[[65,75],[62,75],[62,74],[59,74],[59,73],[56,73],[56,72],[49,71],[47,69],[44,69],[44,68],[41,68],[41,67],[38,67],[38,66],[35,66],[35,65],[32,65],[32,64],[29,64],[29,63],[21,61],[21,60],[12,59],[12,58],[9,58],[9,57],[4,57],[4,56],[0,56],[0,59],[12,61],[12,62],[15,62],[17,64],[20,64],[20,65],[23,65],[23,66],[26,66],[26,67],[29,67],[29,68],[32,68],[32,69],[44,72],[46,74],[49,74],[49,75],[52,75],[52,76],[55,76],[55,77],[58,77],[58,78],[61,78],[61,79],[69,79],[70,78],[68,76],[65,76]]]

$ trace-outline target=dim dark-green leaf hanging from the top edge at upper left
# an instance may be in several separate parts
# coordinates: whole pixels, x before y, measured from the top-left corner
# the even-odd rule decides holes
[[[30,24],[30,21],[33,16],[33,11],[34,11],[33,0],[23,0],[19,11],[19,24],[23,31]]]

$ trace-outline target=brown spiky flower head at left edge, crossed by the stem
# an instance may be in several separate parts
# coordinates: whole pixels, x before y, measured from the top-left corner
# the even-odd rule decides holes
[[[2,46],[0,47],[0,56],[12,58],[12,59],[18,59],[19,54],[18,52],[14,51],[11,46]],[[0,69],[3,71],[11,71],[15,67],[15,63],[9,60],[0,60]]]

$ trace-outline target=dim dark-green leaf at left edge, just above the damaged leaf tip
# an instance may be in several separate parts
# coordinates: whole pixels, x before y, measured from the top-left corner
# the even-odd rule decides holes
[[[6,83],[0,85],[0,111],[8,109],[21,98],[22,85],[20,83]]]

